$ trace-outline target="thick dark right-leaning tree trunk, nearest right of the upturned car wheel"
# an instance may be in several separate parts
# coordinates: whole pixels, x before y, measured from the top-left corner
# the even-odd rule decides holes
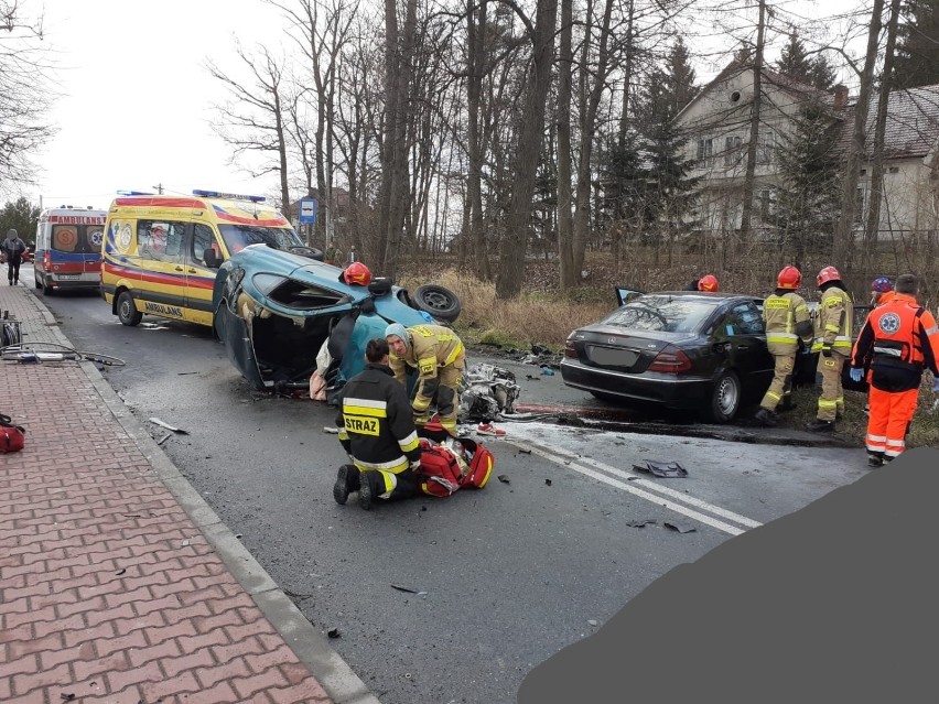
[[[544,108],[551,87],[554,59],[554,30],[558,24],[558,0],[538,0],[532,42],[532,63],[518,148],[515,153],[512,184],[506,234],[499,247],[500,271],[496,280],[496,297],[512,299],[521,292],[525,252],[531,228],[531,199],[544,131]]]

